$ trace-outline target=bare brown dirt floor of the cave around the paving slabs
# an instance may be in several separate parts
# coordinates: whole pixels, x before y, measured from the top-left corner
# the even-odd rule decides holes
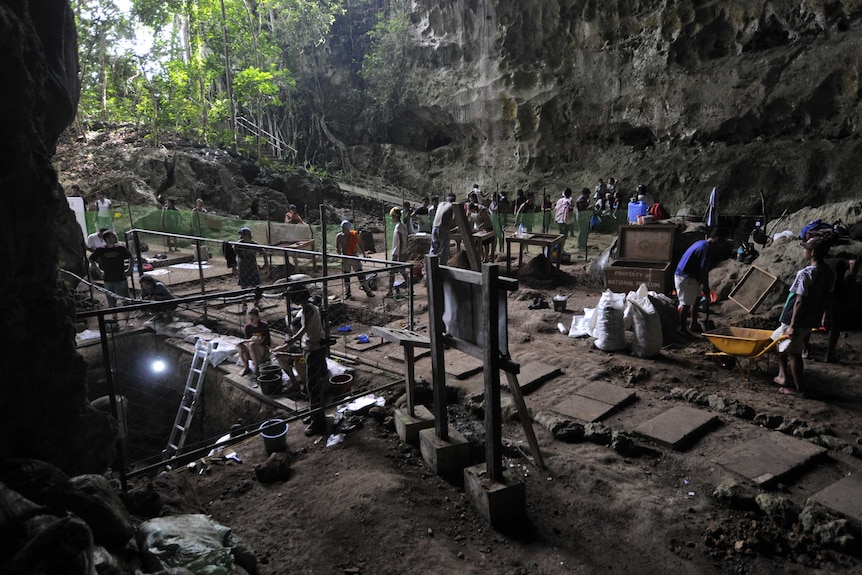
[[[601,248],[609,239],[593,241]],[[509,419],[503,426],[504,465],[524,482],[527,508],[526,519],[505,532],[485,522],[458,481],[431,473],[418,448],[399,440],[391,418],[371,416],[332,447],[319,437],[305,437],[300,422],[291,424],[291,475],[275,483],[257,480],[254,467],[267,453],[262,440],[252,437],[236,447],[242,464],[212,466],[202,475],[178,474],[174,486],[184,495],[177,508],[205,511],[230,526],[253,547],[258,572],[266,575],[862,572],[858,555],[815,543],[798,524],[783,528],[757,510],[721,504],[713,491],[723,481],[735,480],[751,494],[758,489],[717,465],[717,456],[769,431],[750,417],[695,405],[681,394],[694,389],[757,414],[797,418],[854,446],[855,454],[830,449],[816,465],[770,489],[802,506],[812,494],[862,469],[862,334],[842,337],[839,363],[806,362],[810,395],[781,395],[772,381],[774,361],[743,381],[732,364],[725,367],[706,355],[715,351],[706,339],[670,343],[660,355],[641,359],[625,351],[600,351],[590,337],[561,334],[558,323],[568,327],[573,314],[595,306],[602,291],[590,284],[583,260],[563,264],[562,271],[573,285],[521,287],[509,299],[512,358],[562,371],[527,395],[534,417],[552,411],[571,390],[602,381],[637,396],[602,421],[610,430],[631,432],[676,405],[713,411],[720,420],[717,428],[682,451],[635,438],[635,449],[621,453],[600,442],[555,439],[534,421],[546,464],[540,469],[529,456],[521,424]],[[377,298],[363,295],[350,305],[380,305],[384,291],[378,286]],[[537,297],[550,304],[556,294],[570,294],[567,311],[529,309]],[[424,297],[424,286],[417,285],[415,327],[427,333]],[[393,313],[406,316],[403,300],[387,302],[400,306]],[[722,325],[736,317],[732,306],[717,304],[714,321]],[[404,320],[391,325],[404,325]],[[352,333],[369,328],[354,322]],[[812,357],[819,358],[825,337],[812,341]],[[363,352],[364,363],[387,365],[389,371],[360,366],[362,379],[369,384],[397,379],[401,366],[387,356],[400,355],[394,344]],[[420,399],[429,404],[430,366],[428,358],[417,361]],[[475,441],[482,440],[481,419],[469,398],[481,393],[482,377],[447,378],[453,390],[450,425]],[[391,394],[390,403],[397,395]],[[482,454],[481,444],[473,452]]]

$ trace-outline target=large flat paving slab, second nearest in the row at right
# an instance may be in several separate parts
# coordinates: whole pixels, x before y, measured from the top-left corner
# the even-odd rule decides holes
[[[716,463],[765,485],[825,453],[824,447],[773,431],[726,451]]]

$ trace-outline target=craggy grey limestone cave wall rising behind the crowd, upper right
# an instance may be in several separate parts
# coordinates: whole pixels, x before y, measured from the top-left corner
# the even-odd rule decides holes
[[[417,97],[360,171],[421,192],[642,182],[675,213],[859,195],[862,2],[417,0]],[[754,212],[754,213],[758,213]]]

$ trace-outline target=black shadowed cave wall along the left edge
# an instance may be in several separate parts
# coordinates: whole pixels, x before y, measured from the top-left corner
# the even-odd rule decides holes
[[[86,401],[68,300],[57,281],[65,199],[50,155],[77,104],[66,0],[0,1],[0,458],[71,474],[110,463],[116,425]]]

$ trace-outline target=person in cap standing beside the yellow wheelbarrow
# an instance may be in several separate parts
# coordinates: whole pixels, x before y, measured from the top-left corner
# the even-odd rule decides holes
[[[796,272],[781,310],[781,325],[772,333],[772,339],[783,338],[778,343],[778,375],[774,381],[785,395],[803,392],[802,351],[811,329],[826,321],[825,312],[835,288],[835,272],[824,262],[829,244],[823,238],[811,238],[799,245],[808,265]],[[788,372],[793,387],[787,385]]]

